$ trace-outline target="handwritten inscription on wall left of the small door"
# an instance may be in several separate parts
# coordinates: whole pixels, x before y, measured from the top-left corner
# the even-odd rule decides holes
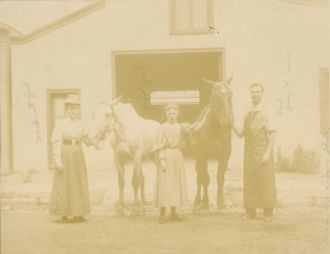
[[[37,96],[32,92],[30,84],[27,82],[22,83],[23,93],[26,99],[27,112],[29,115],[29,121],[33,128],[35,142],[41,142],[41,133],[40,133],[40,121],[38,118],[38,111],[35,105]]]

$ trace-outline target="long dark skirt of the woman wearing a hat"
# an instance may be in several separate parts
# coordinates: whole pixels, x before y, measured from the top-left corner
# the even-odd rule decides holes
[[[62,145],[62,173],[54,173],[50,213],[84,216],[89,212],[87,170],[81,147]]]

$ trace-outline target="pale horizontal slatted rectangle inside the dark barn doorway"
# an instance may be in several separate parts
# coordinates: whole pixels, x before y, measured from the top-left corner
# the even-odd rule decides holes
[[[198,90],[155,91],[150,94],[150,104],[199,104],[199,97],[200,94]]]

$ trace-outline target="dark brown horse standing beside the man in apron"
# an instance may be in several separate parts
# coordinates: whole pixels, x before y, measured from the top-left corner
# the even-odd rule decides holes
[[[232,78],[218,82],[204,79],[206,83],[212,86],[210,100],[192,128],[196,138],[194,144],[197,171],[197,193],[194,203],[196,208],[209,208],[208,160],[210,158],[216,158],[218,161],[217,205],[218,208],[225,207],[223,186],[231,154],[233,120],[232,92],[229,87],[231,80]]]

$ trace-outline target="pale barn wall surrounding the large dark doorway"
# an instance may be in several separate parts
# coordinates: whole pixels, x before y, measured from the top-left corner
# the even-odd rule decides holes
[[[330,33],[324,32],[329,31],[329,7],[275,0],[214,2],[213,34],[170,35],[167,1],[114,0],[59,30],[13,46],[15,169],[47,167],[47,89],[80,88],[86,120],[93,103],[112,96],[112,52],[118,50],[224,48],[225,72],[234,75],[235,118],[249,105],[248,86],[260,82],[266,104],[274,110],[291,96],[292,109],[284,108],[278,119],[278,145],[288,152],[298,142],[317,147],[318,73],[330,67]],[[27,15],[20,18],[33,19]],[[235,138],[233,143],[231,165],[236,167],[242,141]],[[91,167],[96,161],[98,167],[108,167],[107,149],[88,150]]]

